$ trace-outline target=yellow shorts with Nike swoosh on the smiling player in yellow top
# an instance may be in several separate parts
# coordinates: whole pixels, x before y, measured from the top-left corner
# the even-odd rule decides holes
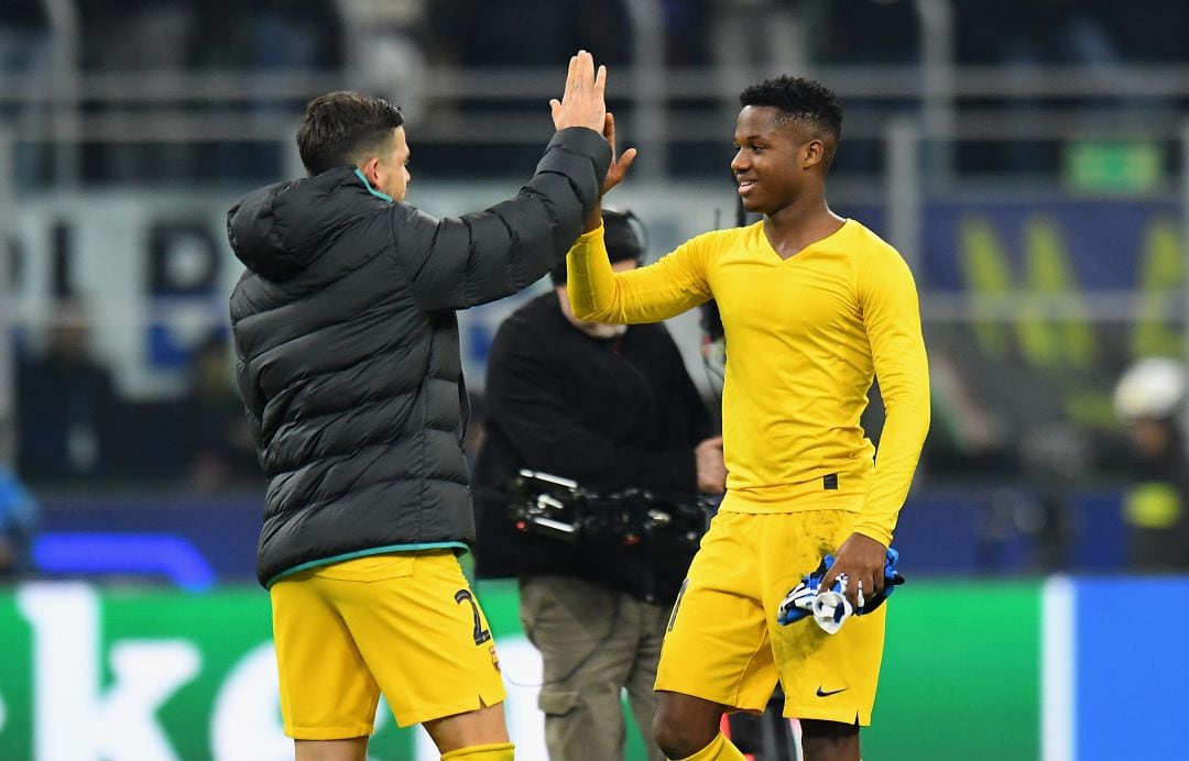
[[[779,677],[785,716],[870,724],[887,605],[832,635],[810,619],[776,623],[785,595],[838,548],[857,518],[837,509],[719,512],[673,607],[656,689],[762,711]]]

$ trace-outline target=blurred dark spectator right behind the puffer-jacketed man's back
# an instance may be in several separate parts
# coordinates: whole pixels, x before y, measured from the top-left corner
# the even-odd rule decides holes
[[[224,330],[213,331],[195,349],[181,405],[184,436],[180,438],[187,444],[185,477],[193,488],[218,492],[262,483]]]

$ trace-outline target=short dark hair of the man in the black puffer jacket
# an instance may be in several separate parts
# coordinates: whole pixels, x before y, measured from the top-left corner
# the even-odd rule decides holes
[[[366,151],[378,150],[404,123],[404,114],[382,97],[361,93],[327,93],[306,104],[297,129],[297,151],[306,171],[354,164]]]

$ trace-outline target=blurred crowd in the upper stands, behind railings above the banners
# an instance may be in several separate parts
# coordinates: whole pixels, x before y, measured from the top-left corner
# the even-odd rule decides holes
[[[69,4],[68,4],[69,5]],[[669,66],[716,68],[735,71],[756,66],[766,74],[801,72],[829,65],[897,65],[920,63],[923,26],[938,7],[949,7],[954,31],[952,62],[957,65],[1028,66],[1103,64],[1182,64],[1189,6],[1160,0],[75,0],[77,64],[96,72],[353,72],[351,85],[375,91],[403,104],[413,118],[442,108],[426,91],[424,74],[439,68],[539,69],[556,68],[572,51],[596,51],[600,62],[622,66],[635,61],[633,30],[641,19],[633,13],[653,8],[660,14],[665,63]],[[935,19],[936,20],[936,19]],[[31,74],[26,88],[44,89],[55,51],[51,24],[42,0],[12,0],[0,7],[0,72]],[[137,40],[137,44],[112,44]],[[61,58],[59,58],[61,61]],[[40,74],[44,78],[37,76]],[[1014,76],[1014,75],[1013,75]],[[1109,76],[1105,74],[1103,76]],[[724,84],[737,90],[724,74]],[[743,83],[746,84],[746,82]],[[514,99],[515,100],[515,99]],[[693,99],[698,100],[698,99]],[[713,104],[707,94],[704,99]],[[867,97],[853,113],[910,108],[897,99]],[[1081,99],[1094,106],[1093,99]],[[1001,99],[995,103],[1020,113],[1061,99]],[[523,104],[505,102],[509,106]],[[688,104],[688,103],[687,103]],[[974,106],[975,103],[968,103]],[[1115,103],[1116,106],[1118,103]],[[1145,104],[1137,99],[1138,106]],[[1135,106],[1133,104],[1133,106]],[[245,113],[300,114],[302,99],[292,102],[239,101]],[[457,106],[457,104],[455,104]],[[628,104],[621,104],[627,108]],[[1147,106],[1152,106],[1147,103]],[[490,108],[482,100],[464,102],[465,110]],[[1099,107],[1102,107],[1099,103]],[[12,114],[12,104],[0,104]],[[39,107],[33,107],[33,110]],[[89,112],[117,108],[87,103]],[[124,108],[124,107],[119,107]],[[189,113],[209,102],[181,103]],[[1111,106],[1107,106],[1111,108]],[[882,110],[880,110],[882,109]],[[126,113],[117,112],[113,113]],[[873,112],[874,113],[874,112]],[[0,110],[0,115],[4,112]],[[36,116],[29,116],[36,119]],[[478,151],[482,146],[474,146]],[[250,144],[209,146],[162,145],[134,147],[83,145],[82,173],[94,182],[161,179],[256,179],[283,171]],[[476,161],[467,146],[434,152],[440,175],[473,175]],[[518,146],[508,152],[517,160]],[[52,161],[25,146],[19,164],[27,165],[29,183],[48,182]],[[681,148],[677,148],[680,151]],[[704,152],[704,151],[703,151]],[[492,171],[509,164],[487,156]],[[681,154],[681,167],[709,173],[698,154]],[[1036,163],[1055,164],[1052,151],[1034,146],[1004,150],[981,145],[974,154],[958,152],[971,170],[1024,170]],[[879,157],[851,150],[839,169],[869,170]]]

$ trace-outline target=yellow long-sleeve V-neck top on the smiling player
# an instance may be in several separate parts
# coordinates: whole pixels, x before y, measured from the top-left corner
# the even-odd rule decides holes
[[[568,291],[575,316],[605,323],[716,299],[726,334],[721,509],[849,509],[858,533],[891,544],[930,413],[917,286],[892,246],[848,220],[781,259],[757,222],[616,274],[599,227],[570,252]],[[874,376],[887,410],[877,468],[860,425]]]

